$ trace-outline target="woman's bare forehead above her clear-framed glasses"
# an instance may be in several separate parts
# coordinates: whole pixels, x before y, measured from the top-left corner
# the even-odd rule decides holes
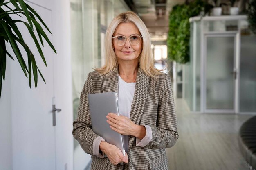
[[[140,34],[139,33],[139,29],[137,28],[137,26],[135,24],[133,24],[132,22],[128,22],[128,23],[120,23],[117,26],[117,29],[114,33],[114,35],[117,34],[122,34],[122,35],[132,35],[132,34]]]

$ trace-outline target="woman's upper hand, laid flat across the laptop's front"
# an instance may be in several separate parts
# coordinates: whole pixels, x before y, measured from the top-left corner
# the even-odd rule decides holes
[[[107,122],[110,124],[110,128],[122,135],[132,135],[142,139],[146,136],[146,128],[138,124],[133,123],[129,118],[122,115],[116,115],[114,113],[108,113],[106,116]]]

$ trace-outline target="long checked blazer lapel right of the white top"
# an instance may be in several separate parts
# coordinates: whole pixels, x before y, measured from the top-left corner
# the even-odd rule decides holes
[[[144,112],[146,99],[148,95],[149,76],[141,69],[139,64],[138,74],[136,78],[135,92],[132,100],[130,111],[130,120],[135,124],[139,124]]]

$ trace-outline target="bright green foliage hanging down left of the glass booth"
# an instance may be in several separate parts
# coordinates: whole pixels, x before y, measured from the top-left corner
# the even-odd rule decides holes
[[[167,37],[168,59],[177,63],[189,62],[189,18],[200,12],[208,13],[209,6],[203,0],[195,0],[188,5],[176,5],[169,16]]]

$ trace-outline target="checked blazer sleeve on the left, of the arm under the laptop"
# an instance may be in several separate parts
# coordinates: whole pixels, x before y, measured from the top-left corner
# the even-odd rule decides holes
[[[88,104],[88,94],[94,93],[92,80],[90,73],[83,86],[83,90],[80,96],[80,103],[78,107],[77,119],[73,122],[73,136],[79,142],[83,150],[90,154],[93,154],[94,140],[99,137],[92,131],[92,123],[90,119],[90,111]]]

